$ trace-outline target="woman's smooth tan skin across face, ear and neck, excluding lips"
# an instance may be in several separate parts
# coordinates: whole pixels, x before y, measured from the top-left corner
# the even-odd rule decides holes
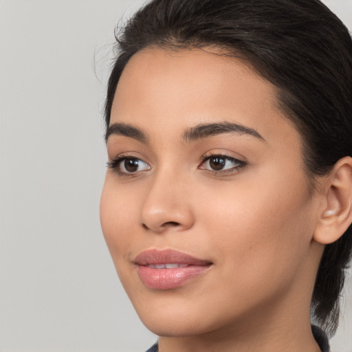
[[[160,352],[320,351],[311,293],[324,245],[351,222],[349,157],[313,187],[274,87],[214,48],[135,54],[107,151],[102,230]],[[212,265],[175,289],[151,289],[134,263],[151,249]]]

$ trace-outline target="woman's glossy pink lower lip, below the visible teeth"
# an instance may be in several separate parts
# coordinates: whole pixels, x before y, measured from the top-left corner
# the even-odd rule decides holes
[[[138,274],[146,287],[151,289],[175,289],[204,274],[210,265],[189,265],[188,267],[174,267],[171,269],[154,269],[146,265],[139,265]]]

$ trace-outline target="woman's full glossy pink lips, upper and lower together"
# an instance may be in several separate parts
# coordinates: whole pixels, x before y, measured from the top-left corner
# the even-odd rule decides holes
[[[134,262],[138,265],[138,275],[142,283],[151,289],[174,289],[203,274],[212,265],[210,261],[175,250],[146,250],[138,254]],[[153,267],[166,264],[177,264],[181,267]]]

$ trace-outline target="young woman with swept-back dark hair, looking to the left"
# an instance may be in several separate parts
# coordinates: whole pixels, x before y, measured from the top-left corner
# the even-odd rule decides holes
[[[329,351],[352,248],[347,29],[318,0],[154,0],[118,43],[100,217],[150,351]]]

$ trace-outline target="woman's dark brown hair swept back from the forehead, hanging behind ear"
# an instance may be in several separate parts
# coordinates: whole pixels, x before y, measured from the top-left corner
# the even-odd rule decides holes
[[[276,86],[278,102],[303,136],[307,175],[325,175],[352,155],[352,41],[318,0],[154,0],[116,32],[118,55],[107,89],[105,121],[122,71],[145,47],[170,50],[216,45],[243,58]],[[326,246],[312,314],[336,331],[351,227]]]

